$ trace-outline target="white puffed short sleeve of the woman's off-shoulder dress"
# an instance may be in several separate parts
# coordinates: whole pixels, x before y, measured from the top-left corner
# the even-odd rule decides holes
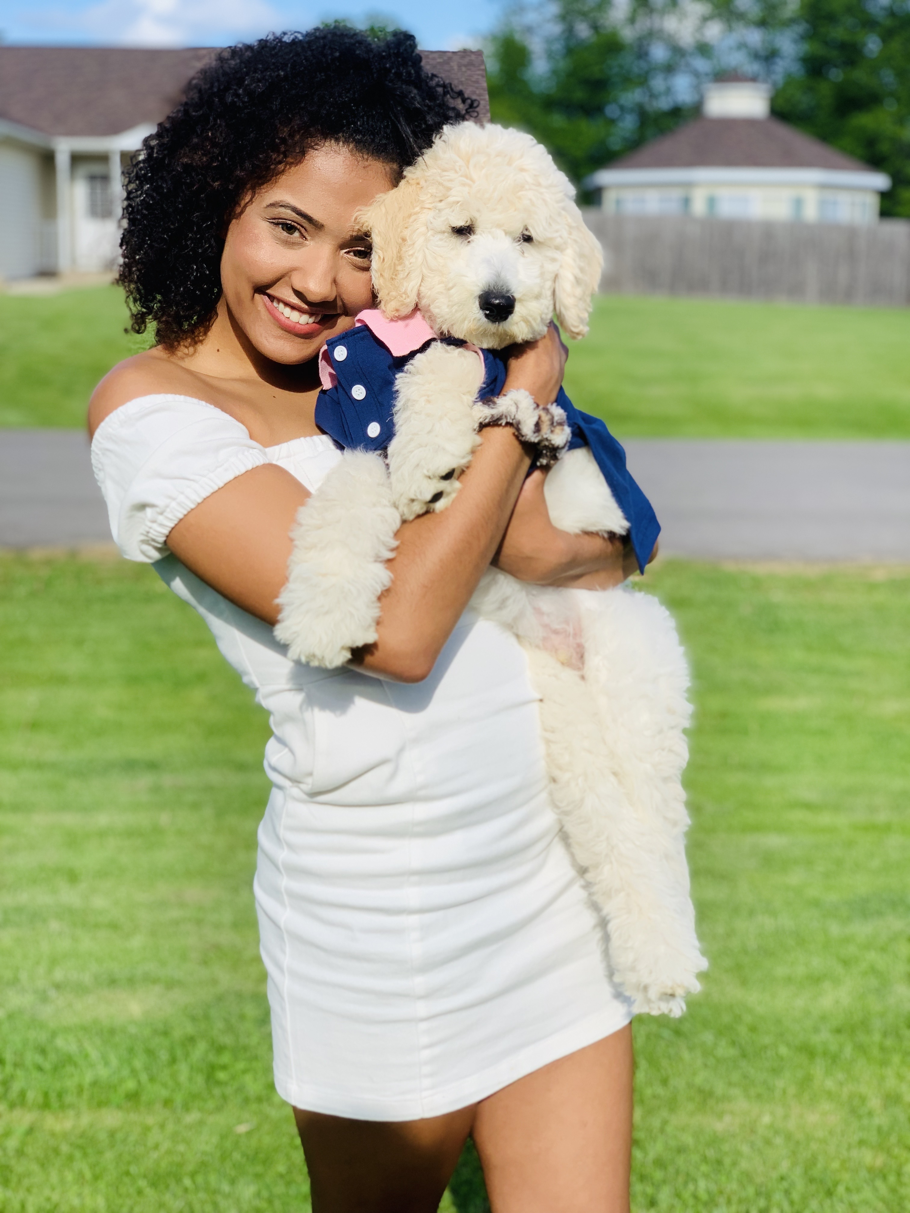
[[[130,400],[92,440],[114,541],[127,560],[148,564],[167,556],[167,535],[194,506],[268,462],[239,421],[183,395]]]

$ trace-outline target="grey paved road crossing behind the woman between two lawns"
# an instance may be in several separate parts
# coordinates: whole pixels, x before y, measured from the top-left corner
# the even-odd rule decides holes
[[[910,443],[635,439],[626,448],[667,554],[910,563]],[[83,433],[0,431],[0,546],[109,539]]]

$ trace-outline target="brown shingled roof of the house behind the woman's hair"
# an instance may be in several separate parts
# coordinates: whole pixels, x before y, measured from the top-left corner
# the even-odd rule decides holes
[[[50,136],[109,136],[157,125],[217,50],[0,46],[0,119]],[[421,51],[423,66],[480,104],[489,121],[482,51]]]

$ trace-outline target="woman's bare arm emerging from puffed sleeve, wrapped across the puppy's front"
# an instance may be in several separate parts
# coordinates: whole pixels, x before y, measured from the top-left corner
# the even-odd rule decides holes
[[[556,398],[565,351],[556,331],[510,360],[504,391]],[[370,673],[420,682],[433,668],[508,523],[529,466],[511,429],[485,429],[448,509],[398,531],[379,639],[359,654]],[[167,546],[232,602],[274,623],[288,577],[290,531],[309,494],[278,467],[258,467],[206,497],[171,530]]]

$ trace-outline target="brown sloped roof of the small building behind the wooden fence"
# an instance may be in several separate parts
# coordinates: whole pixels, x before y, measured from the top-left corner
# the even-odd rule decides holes
[[[875,171],[778,118],[695,118],[608,165],[610,170],[709,167]]]

